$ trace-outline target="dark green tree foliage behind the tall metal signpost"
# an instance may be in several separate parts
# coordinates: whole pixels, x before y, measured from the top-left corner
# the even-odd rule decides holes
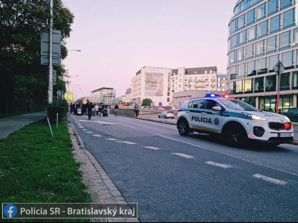
[[[70,36],[73,14],[54,0],[53,29],[61,30],[62,59],[67,56],[65,39]],[[0,0],[0,99],[8,101],[0,113],[24,113],[45,109],[48,94],[48,66],[40,64],[41,28],[50,19],[48,0]],[[53,92],[66,90],[63,67],[57,70]]]

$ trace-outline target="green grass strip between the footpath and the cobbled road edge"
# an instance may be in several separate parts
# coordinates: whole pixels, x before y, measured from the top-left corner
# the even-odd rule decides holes
[[[82,183],[80,164],[73,158],[66,123],[52,130],[53,137],[44,119],[0,140],[0,203],[92,203]]]

